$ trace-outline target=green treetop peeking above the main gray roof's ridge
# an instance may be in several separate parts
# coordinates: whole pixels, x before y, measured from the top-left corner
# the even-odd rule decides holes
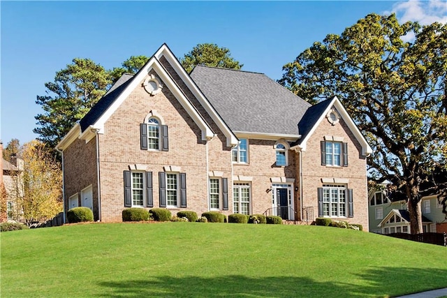
[[[204,65],[222,68],[241,69],[244,64],[240,64],[231,57],[230,50],[226,47],[219,47],[214,43],[200,43],[193,47],[180,59],[180,63],[187,73],[191,73],[194,66]]]

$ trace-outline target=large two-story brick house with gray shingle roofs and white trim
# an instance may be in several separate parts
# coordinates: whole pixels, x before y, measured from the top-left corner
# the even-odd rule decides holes
[[[310,105],[262,73],[196,66],[162,45],[57,145],[64,211],[129,207],[318,216],[368,228],[372,152],[342,103]]]

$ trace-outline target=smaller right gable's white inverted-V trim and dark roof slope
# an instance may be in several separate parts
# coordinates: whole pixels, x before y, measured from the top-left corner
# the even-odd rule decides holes
[[[346,111],[340,100],[337,98],[337,96],[334,96],[333,98],[330,98],[328,100],[324,100],[307,110],[306,114],[304,115],[304,117],[302,117],[302,119],[300,119],[300,122],[298,124],[298,129],[300,130],[302,137],[300,140],[298,140],[298,142],[296,142],[296,144],[293,145],[292,148],[306,151],[307,141],[312,136],[321,121],[325,119],[326,115],[328,114],[328,112],[330,112],[332,107],[335,107],[335,109],[337,109],[340,117],[342,117],[346,125],[349,127],[353,135],[360,143],[362,147],[362,155],[368,156],[369,154],[372,154],[372,148],[369,146],[367,140],[365,139],[365,137],[363,137],[362,133],[354,123],[351,116],[349,116],[348,112]]]

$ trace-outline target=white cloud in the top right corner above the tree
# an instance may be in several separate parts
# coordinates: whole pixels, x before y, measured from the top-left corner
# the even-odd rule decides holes
[[[397,2],[391,11],[400,22],[416,21],[427,25],[433,22],[447,23],[447,1],[445,0],[408,0]]]

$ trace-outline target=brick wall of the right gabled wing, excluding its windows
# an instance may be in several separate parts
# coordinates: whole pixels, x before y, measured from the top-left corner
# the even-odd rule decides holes
[[[347,167],[321,165],[320,142],[324,140],[325,135],[343,137],[343,142],[348,142],[349,165]],[[353,189],[354,216],[353,218],[335,219],[359,223],[363,226],[363,230],[368,230],[366,158],[361,156],[361,152],[362,148],[358,140],[342,119],[335,126],[332,126],[326,119],[323,119],[318,125],[307,141],[306,151],[302,152],[302,204],[303,207],[313,207],[314,218],[318,217],[317,188],[323,186],[321,179],[348,179],[346,188]]]

